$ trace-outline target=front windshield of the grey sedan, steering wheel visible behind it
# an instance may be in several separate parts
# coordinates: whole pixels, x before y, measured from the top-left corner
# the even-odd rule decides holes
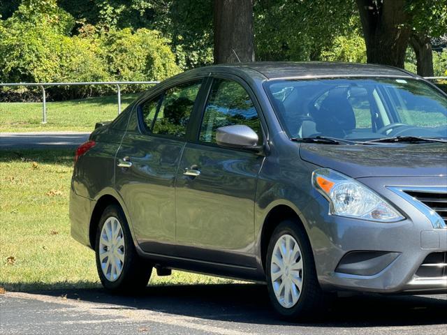
[[[293,138],[447,137],[447,98],[421,80],[272,80],[265,89]]]

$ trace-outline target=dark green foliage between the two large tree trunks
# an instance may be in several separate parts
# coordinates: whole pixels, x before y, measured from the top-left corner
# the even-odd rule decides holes
[[[320,60],[358,15],[344,0],[258,0],[254,10],[256,53],[263,61]]]

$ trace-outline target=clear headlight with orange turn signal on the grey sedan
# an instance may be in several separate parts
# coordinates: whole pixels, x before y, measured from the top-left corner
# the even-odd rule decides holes
[[[330,169],[315,170],[312,184],[329,200],[330,214],[381,222],[404,219],[386,200],[339,172]]]

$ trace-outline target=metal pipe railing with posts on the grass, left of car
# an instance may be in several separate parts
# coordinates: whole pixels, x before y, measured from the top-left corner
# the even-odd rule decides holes
[[[118,97],[118,114],[121,113],[121,85],[133,84],[158,84],[159,82],[6,82],[1,83],[0,86],[15,87],[15,86],[36,86],[41,87],[42,91],[42,123],[47,123],[47,96],[45,87],[49,86],[80,86],[80,85],[115,85],[117,87]]]

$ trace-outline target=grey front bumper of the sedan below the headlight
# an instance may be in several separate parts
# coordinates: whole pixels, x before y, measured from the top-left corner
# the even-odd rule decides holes
[[[393,191],[387,190],[385,186],[395,184],[395,179],[381,180],[380,183],[377,183],[377,179],[372,179],[374,178],[362,182],[385,196],[402,211],[406,220],[397,223],[374,223],[331,216],[328,214],[327,201],[325,203],[323,198],[316,198],[317,204],[312,204],[307,210],[319,213],[316,221],[310,222],[309,237],[321,287],[325,290],[381,293],[447,292],[445,257],[444,262],[429,265],[441,268],[436,276],[420,276],[421,271],[418,271],[427,256],[447,253],[447,228],[434,228],[430,219],[416,207]],[[436,178],[430,179],[432,183],[439,183]],[[444,177],[442,182],[445,180]],[[405,178],[400,181],[410,182]],[[421,183],[430,181],[425,179]],[[383,267],[377,267],[377,262],[373,262],[377,271],[362,269],[363,273],[368,275],[353,274],[355,271],[344,270],[356,269],[356,264],[342,267],[342,271],[339,271],[337,267],[344,257],[356,251],[379,251],[389,253],[393,257],[389,262],[383,262]]]

